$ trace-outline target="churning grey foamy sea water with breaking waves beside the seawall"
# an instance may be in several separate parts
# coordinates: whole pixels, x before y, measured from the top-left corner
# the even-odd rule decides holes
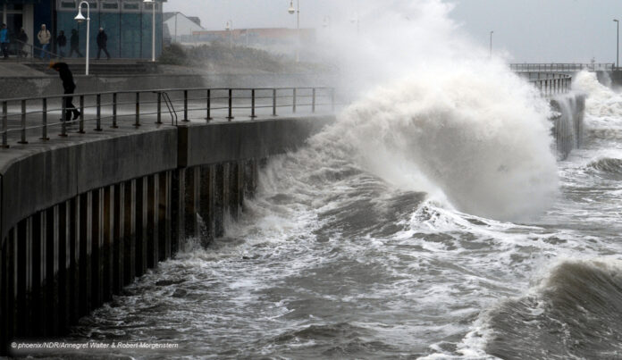
[[[622,96],[578,74],[584,147],[556,162],[529,84],[475,73],[351,105],[269,161],[226,237],[188,239],[68,340],[179,344],[106,353],[133,357],[622,357]]]

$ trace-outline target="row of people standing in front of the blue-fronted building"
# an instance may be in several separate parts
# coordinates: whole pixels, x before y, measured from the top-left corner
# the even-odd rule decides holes
[[[17,35],[16,39],[18,40],[18,50],[17,55],[19,57],[28,55],[28,35],[21,28],[20,33]],[[50,30],[46,29],[46,24],[41,25],[41,29],[38,31],[37,39],[40,45],[40,53],[39,57],[41,59],[49,59],[51,56],[50,52],[50,44],[52,40],[52,34]],[[0,51],[2,52],[4,59],[9,57],[9,44],[11,43],[9,37],[9,30],[6,29],[6,24],[2,24],[0,27]],[[105,33],[103,28],[99,28],[99,33],[97,34],[97,59],[99,59],[99,55],[102,51],[104,51],[106,57],[110,59],[110,54],[108,54],[107,49],[108,36]],[[80,35],[77,29],[71,29],[71,37],[69,39],[69,55],[71,57],[73,53],[76,53],[78,56],[83,57],[84,55],[80,53]],[[67,37],[64,34],[63,30],[59,31],[58,37],[56,37],[56,47],[58,51],[59,57],[65,57],[65,48],[67,46]]]

